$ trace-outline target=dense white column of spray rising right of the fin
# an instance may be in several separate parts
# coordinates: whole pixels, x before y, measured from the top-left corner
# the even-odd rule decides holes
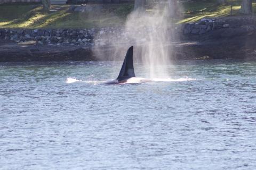
[[[141,47],[141,60],[149,68],[147,76],[150,78],[169,77],[166,66],[170,64],[171,53],[167,45],[171,35],[167,14],[167,7],[157,5],[153,12],[134,11],[126,21],[125,32],[136,32],[130,38],[135,46]]]

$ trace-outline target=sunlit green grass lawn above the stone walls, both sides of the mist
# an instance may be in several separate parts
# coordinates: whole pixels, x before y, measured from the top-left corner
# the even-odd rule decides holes
[[[230,15],[230,1],[217,5],[216,0],[185,2],[180,4],[181,15],[176,23],[195,22],[205,17]],[[241,1],[234,1],[233,15],[239,15]],[[106,4],[101,11],[71,13],[70,5],[52,5],[52,12],[43,12],[39,5],[0,6],[1,28],[92,28],[122,25],[132,11],[133,4]],[[256,3],[253,3],[256,11]]]

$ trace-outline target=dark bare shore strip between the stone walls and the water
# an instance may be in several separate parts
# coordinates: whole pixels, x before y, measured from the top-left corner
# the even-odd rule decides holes
[[[199,41],[182,41],[167,45],[171,61],[180,60],[252,60],[256,61],[256,35],[233,38],[214,38]],[[143,46],[134,47],[134,60],[140,61]],[[126,46],[118,49],[126,52]],[[116,47],[101,47],[95,54],[93,47],[67,45],[18,45],[0,43],[0,62],[63,62],[63,61],[122,61],[114,56]],[[103,54],[102,56],[100,56]],[[114,58],[114,59],[113,59]]]

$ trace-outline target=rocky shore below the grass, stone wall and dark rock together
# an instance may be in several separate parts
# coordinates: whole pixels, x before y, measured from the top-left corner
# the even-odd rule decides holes
[[[171,60],[256,59],[256,19],[253,17],[208,18],[172,25],[168,29],[173,40],[166,44],[166,48],[172,49]],[[144,28],[135,33],[140,36],[150,31]],[[113,55],[115,42],[119,42],[121,48],[132,44],[131,33],[133,30],[124,32],[114,27],[0,29],[0,62],[110,60],[108,55],[97,58],[93,48],[97,47],[102,54]],[[137,53],[148,41],[147,37],[140,39]]]

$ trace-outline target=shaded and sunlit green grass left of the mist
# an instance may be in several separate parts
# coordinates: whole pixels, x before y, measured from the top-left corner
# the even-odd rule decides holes
[[[0,6],[2,28],[91,28],[122,25],[132,4],[106,5],[100,12],[71,13],[69,5],[52,6],[57,12],[43,12],[41,6]]]

